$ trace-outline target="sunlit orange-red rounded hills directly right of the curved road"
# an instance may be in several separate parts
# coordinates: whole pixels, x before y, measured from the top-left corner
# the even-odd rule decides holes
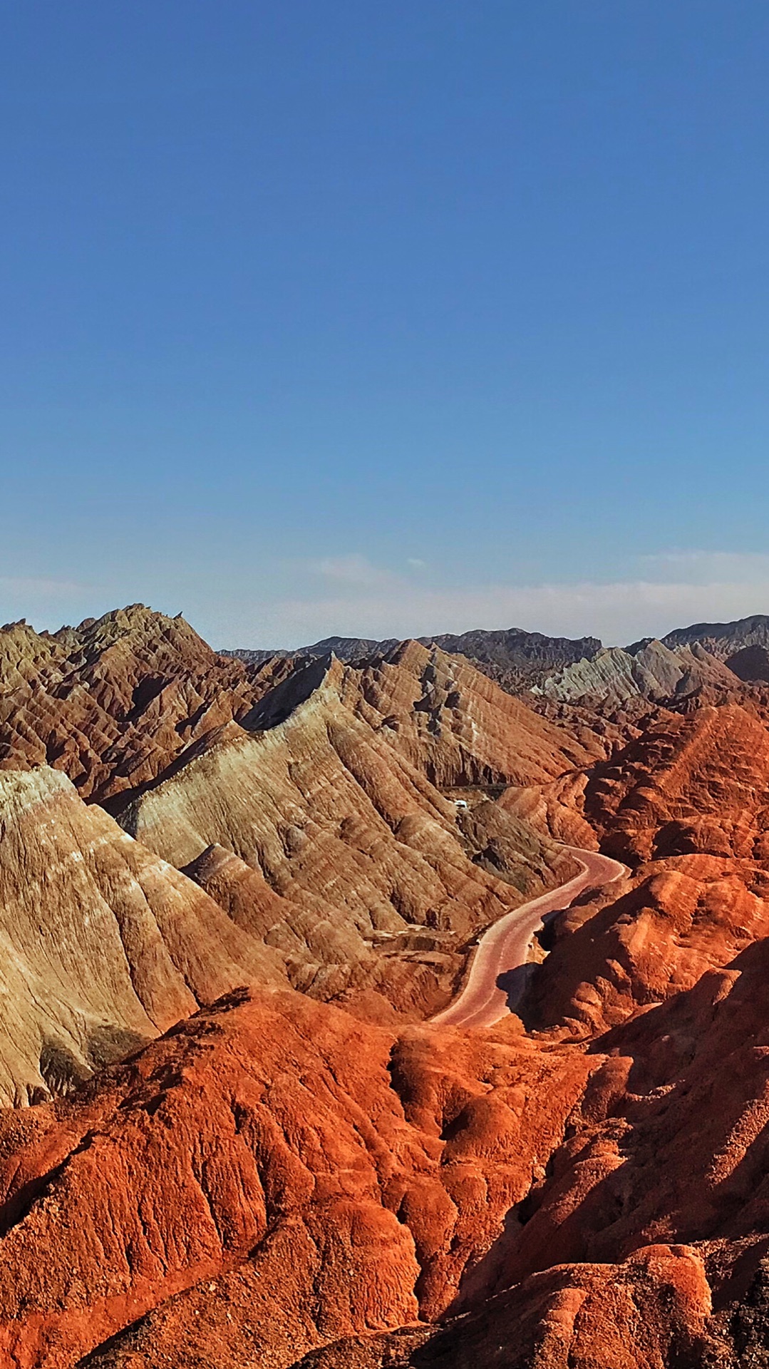
[[[597,765],[580,810],[601,849],[632,867],[632,886],[549,928],[530,1025],[591,1038],[766,936],[768,787],[769,732],[738,705],[661,713]]]

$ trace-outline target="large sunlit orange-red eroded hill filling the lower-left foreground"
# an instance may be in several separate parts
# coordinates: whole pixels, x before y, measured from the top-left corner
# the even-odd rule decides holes
[[[145,1318],[133,1365],[278,1369],[434,1316],[595,1066],[222,1002],[73,1102],[0,1114],[0,1362],[63,1369]]]

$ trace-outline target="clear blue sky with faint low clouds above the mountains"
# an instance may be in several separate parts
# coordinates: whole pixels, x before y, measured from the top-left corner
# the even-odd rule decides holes
[[[769,612],[765,0],[7,0],[0,622]]]

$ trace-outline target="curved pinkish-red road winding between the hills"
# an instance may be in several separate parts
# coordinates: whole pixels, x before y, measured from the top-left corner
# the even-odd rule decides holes
[[[612,884],[627,875],[627,867],[609,856],[577,846],[564,846],[564,850],[579,861],[582,873],[493,923],[478,943],[464,988],[443,1012],[430,1019],[432,1023],[442,1027],[493,1027],[510,1010],[508,991],[497,986],[497,979],[527,964],[528,947],[542,919],[556,909],[568,908],[583,890]]]

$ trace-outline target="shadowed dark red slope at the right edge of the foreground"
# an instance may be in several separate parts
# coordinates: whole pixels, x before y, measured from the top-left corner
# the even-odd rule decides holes
[[[748,945],[594,1042],[609,1054],[502,1283],[672,1240],[699,1250],[720,1309],[744,1295],[768,1253],[768,946]]]

